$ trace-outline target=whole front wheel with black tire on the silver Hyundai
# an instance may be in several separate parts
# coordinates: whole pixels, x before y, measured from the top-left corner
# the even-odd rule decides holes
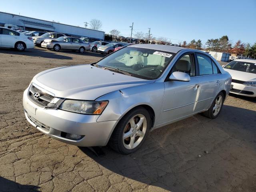
[[[130,122],[134,123],[133,126]],[[109,140],[110,147],[121,154],[135,152],[145,141],[151,125],[150,114],[145,108],[129,111],[114,129]]]

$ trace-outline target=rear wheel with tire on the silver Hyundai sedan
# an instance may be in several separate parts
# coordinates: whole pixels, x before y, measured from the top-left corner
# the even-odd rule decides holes
[[[212,102],[211,107],[207,111],[202,112],[201,114],[205,117],[210,118],[210,119],[215,119],[220,114],[223,103],[224,103],[224,95],[223,95],[222,92],[220,92],[216,96],[214,101]]]

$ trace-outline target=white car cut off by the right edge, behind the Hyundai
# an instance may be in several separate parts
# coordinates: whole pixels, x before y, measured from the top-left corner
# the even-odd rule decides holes
[[[224,66],[224,70],[232,76],[230,93],[256,97],[256,60],[237,59]]]

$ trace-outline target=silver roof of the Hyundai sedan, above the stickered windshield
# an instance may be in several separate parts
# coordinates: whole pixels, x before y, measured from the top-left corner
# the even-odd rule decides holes
[[[134,45],[130,45],[129,47],[156,49],[156,50],[167,51],[172,53],[177,53],[182,49],[187,49],[184,47],[177,47],[177,46],[171,46],[171,45],[158,45],[158,44],[134,44]]]

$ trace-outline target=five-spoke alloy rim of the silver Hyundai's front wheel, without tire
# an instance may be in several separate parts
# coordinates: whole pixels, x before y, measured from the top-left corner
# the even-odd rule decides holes
[[[133,116],[123,132],[123,144],[126,149],[136,148],[143,140],[147,130],[147,120],[142,114]]]

